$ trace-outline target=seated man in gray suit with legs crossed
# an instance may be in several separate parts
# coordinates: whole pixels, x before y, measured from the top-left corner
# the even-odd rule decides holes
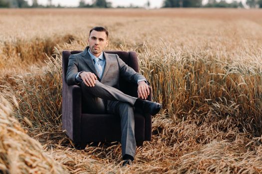
[[[68,85],[81,84],[86,107],[92,113],[112,113],[121,118],[123,165],[134,160],[136,141],[134,107],[155,115],[161,109],[156,102],[145,100],[149,95],[146,78],[128,67],[116,54],[103,50],[108,45],[108,31],[94,27],[89,32],[89,47],[70,55],[66,73]],[[138,85],[138,98],[119,90],[119,77]]]

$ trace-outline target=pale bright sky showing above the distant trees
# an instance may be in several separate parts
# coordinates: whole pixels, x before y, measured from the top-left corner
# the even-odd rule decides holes
[[[32,0],[27,0],[29,4],[32,4]],[[39,4],[46,5],[48,0],[38,0]],[[147,2],[147,0],[107,0],[109,2],[112,2],[112,5],[118,6],[129,6],[130,3],[133,5],[138,5],[138,6],[144,6],[144,4]],[[149,0],[151,3],[151,8],[159,8],[163,4],[163,0]],[[227,2],[231,2],[232,0],[226,0]],[[242,1],[245,2],[246,0],[237,0],[237,1]],[[91,3],[92,0],[85,0],[86,3]],[[203,0],[203,3],[207,3],[208,0]],[[60,4],[62,6],[78,6],[79,0],[52,0],[52,4],[57,5]]]

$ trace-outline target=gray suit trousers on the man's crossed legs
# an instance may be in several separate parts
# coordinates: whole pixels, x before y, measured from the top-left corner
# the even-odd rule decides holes
[[[92,113],[111,113],[121,119],[121,145],[122,156],[125,154],[135,156],[135,119],[134,103],[136,97],[127,95],[117,88],[106,86],[96,80],[95,87],[87,87],[81,83],[84,101]]]

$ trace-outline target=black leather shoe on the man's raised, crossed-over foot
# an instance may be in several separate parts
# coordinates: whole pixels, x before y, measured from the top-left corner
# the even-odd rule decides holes
[[[134,106],[140,108],[144,113],[149,113],[150,115],[156,115],[162,108],[162,105],[157,102],[143,100],[141,98],[136,99]]]

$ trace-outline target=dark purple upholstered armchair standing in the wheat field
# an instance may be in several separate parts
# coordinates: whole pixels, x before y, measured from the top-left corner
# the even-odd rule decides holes
[[[81,51],[62,52],[62,129],[75,147],[84,149],[89,142],[114,142],[121,138],[120,117],[112,114],[90,114],[83,102],[81,87],[68,86],[65,81],[68,58],[71,54]],[[136,52],[130,51],[106,51],[106,53],[118,54],[118,56],[136,72],[139,71]],[[137,97],[137,85],[130,84],[120,79],[120,89],[129,95]],[[147,98],[152,99],[152,88]],[[135,112],[135,138],[137,146],[143,146],[144,141],[151,141],[152,122],[151,115]]]

